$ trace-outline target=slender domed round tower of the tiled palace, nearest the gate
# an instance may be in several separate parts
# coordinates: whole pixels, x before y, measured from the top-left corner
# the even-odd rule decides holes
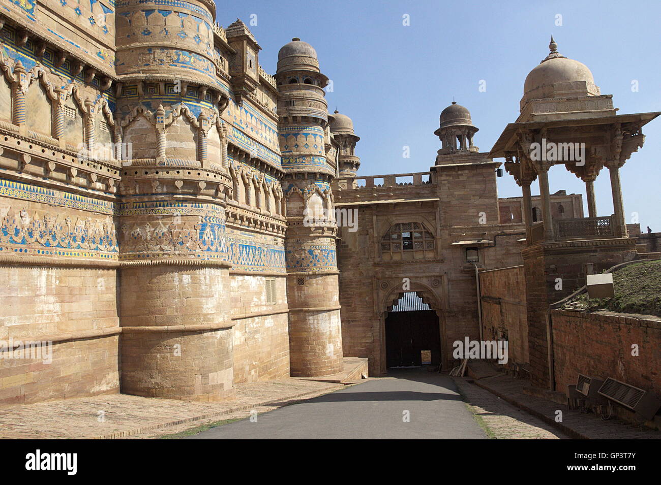
[[[336,173],[327,139],[328,78],[317,52],[298,38],[278,53],[276,82],[282,188],[287,197],[287,294],[293,376],[342,371],[342,330],[331,181]]]

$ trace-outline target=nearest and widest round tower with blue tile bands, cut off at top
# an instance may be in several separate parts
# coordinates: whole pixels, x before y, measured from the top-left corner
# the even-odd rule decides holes
[[[117,5],[122,393],[234,395],[214,14],[210,0]]]

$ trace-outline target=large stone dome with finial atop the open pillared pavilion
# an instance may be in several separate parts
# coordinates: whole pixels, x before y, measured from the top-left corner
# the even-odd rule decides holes
[[[561,55],[553,37],[549,49],[549,55],[525,78],[522,104],[533,99],[600,94],[599,88],[594,84],[592,72],[584,63]]]

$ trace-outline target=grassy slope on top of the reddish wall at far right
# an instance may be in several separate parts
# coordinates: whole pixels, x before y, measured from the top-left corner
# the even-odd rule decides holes
[[[588,299],[581,294],[563,305],[564,309],[608,310],[661,317],[661,260],[641,261],[613,273],[613,298]]]

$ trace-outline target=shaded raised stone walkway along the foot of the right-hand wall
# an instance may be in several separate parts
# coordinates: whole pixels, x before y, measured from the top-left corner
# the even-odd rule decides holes
[[[482,387],[494,395],[514,404],[554,426],[572,438],[577,439],[660,439],[661,432],[641,429],[621,420],[602,420],[600,416],[585,414],[579,410],[570,410],[564,404],[547,401],[540,397],[524,394],[525,379],[510,375],[496,375],[474,381],[475,385]],[[556,410],[562,410],[563,422],[555,422]]]

